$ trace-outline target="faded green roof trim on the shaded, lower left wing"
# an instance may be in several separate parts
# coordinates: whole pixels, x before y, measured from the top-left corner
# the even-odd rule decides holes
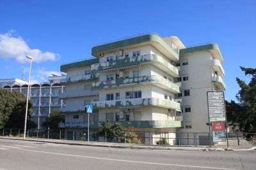
[[[63,64],[60,66],[60,71],[65,72],[67,69],[72,69],[76,67],[83,67],[83,66],[91,66],[92,64],[99,63],[99,59],[89,59],[89,60],[82,60],[79,62],[72,62],[69,64]]]

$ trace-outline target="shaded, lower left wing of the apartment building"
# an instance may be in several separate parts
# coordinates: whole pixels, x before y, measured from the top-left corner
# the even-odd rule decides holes
[[[60,108],[60,113],[65,113],[65,122],[59,127],[65,128],[65,139],[80,140],[88,127],[88,115],[84,113],[85,106],[99,99],[99,92],[92,89],[92,83],[98,81],[99,73],[91,72],[91,65],[98,63],[98,59],[86,59],[61,66],[61,71],[67,73],[67,78],[61,80],[66,89],[60,98],[65,100],[65,108]],[[89,117],[90,127],[99,122],[97,110]]]

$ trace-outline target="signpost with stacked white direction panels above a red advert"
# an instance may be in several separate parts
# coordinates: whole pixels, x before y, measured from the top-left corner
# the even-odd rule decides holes
[[[224,92],[207,92],[208,114],[209,114],[209,132],[210,146],[213,142],[225,141],[225,97]],[[211,129],[212,128],[212,129]],[[212,138],[211,138],[212,134]]]

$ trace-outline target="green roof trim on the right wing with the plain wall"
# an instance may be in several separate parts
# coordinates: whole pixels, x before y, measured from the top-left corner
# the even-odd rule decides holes
[[[214,53],[214,55],[216,55],[215,56],[216,59],[220,59],[221,62],[223,62],[223,57],[221,55],[220,48],[216,43],[183,48],[183,49],[180,49],[180,55],[186,55],[188,53],[203,52],[203,51],[210,51]]]

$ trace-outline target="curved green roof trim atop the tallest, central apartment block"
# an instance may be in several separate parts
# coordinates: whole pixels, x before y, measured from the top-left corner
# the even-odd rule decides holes
[[[104,53],[104,52],[108,52],[109,50],[115,50],[119,48],[124,48],[125,46],[132,46],[132,45],[137,45],[140,43],[147,43],[147,42],[152,42],[148,44],[151,44],[153,46],[154,46],[154,43],[161,45],[161,47],[164,50],[171,53],[173,57],[175,57],[176,59],[179,59],[179,55],[170,46],[168,46],[163,41],[163,39],[159,37],[157,34],[145,34],[145,35],[137,36],[134,38],[127,38],[127,39],[122,39],[120,41],[115,41],[112,43],[106,43],[104,45],[93,46],[92,55],[94,57],[99,57],[99,53]]]

